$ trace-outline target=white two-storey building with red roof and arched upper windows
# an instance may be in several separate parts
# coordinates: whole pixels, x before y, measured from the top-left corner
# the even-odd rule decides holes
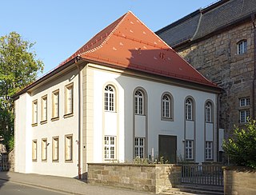
[[[88,162],[216,161],[220,89],[131,12],[15,95],[15,171]]]

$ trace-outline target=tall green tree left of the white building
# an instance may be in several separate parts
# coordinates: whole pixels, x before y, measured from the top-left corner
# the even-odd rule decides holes
[[[34,82],[43,63],[36,59],[34,43],[11,32],[0,38],[0,136],[4,143],[14,143],[14,101],[12,96]]]

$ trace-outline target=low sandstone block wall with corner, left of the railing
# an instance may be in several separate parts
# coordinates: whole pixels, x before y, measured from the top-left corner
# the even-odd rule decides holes
[[[89,163],[88,182],[150,193],[181,185],[181,166]]]

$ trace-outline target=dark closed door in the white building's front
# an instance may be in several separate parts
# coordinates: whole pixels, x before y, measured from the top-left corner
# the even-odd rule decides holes
[[[177,162],[177,137],[170,135],[159,135],[158,138],[159,158],[164,157],[164,161],[169,163]]]

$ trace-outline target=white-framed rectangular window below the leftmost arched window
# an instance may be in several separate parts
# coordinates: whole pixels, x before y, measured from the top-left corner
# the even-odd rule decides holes
[[[105,160],[115,159],[115,137],[114,136],[104,137],[104,158]]]

